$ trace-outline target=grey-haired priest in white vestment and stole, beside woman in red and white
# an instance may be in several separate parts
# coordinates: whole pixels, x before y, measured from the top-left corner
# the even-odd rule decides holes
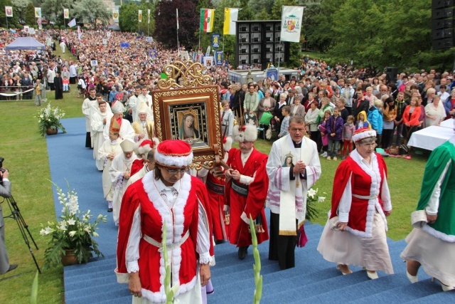
[[[269,260],[278,261],[282,269],[295,266],[296,237],[304,234],[306,192],[321,176],[316,142],[304,136],[304,117],[291,117],[288,130],[288,135],[273,143],[267,161]]]

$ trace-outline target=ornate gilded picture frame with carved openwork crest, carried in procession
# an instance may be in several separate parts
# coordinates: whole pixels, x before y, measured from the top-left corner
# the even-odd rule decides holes
[[[212,169],[223,155],[219,88],[210,85],[211,78],[202,73],[200,63],[177,61],[164,71],[168,78],[159,80],[160,90],[153,92],[156,136],[160,142],[183,137],[183,117],[191,114],[198,138],[194,142],[183,138],[193,147],[190,167]]]

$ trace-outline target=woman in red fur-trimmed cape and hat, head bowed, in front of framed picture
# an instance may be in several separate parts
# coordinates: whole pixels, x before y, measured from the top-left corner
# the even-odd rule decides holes
[[[156,148],[155,169],[128,187],[122,201],[117,242],[117,281],[129,283],[133,303],[164,303],[166,222],[171,285],[176,300],[202,303],[200,287],[210,279],[210,209],[205,185],[186,174],[193,152],[181,140],[165,140]]]

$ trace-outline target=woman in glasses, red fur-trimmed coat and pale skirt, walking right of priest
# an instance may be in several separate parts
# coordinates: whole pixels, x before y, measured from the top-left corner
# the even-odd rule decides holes
[[[393,273],[387,246],[387,220],[392,212],[384,159],[374,152],[375,130],[355,131],[355,150],[341,162],[333,182],[332,209],[324,227],[318,251],[327,261],[337,263],[343,273],[348,265]]]

